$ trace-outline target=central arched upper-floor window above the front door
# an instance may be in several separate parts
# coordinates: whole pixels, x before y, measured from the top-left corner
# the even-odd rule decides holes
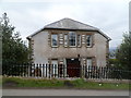
[[[76,35],[73,32],[69,33],[69,46],[76,46]]]

